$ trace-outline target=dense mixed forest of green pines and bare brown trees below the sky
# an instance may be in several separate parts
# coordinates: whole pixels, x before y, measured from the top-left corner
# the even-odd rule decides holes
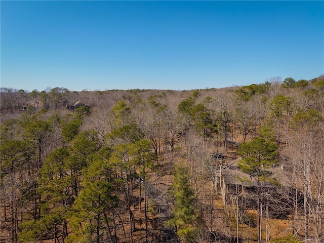
[[[323,210],[324,75],[1,88],[1,242],[320,243]]]

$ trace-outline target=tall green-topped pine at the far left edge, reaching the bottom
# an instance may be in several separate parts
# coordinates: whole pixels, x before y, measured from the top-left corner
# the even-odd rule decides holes
[[[1,199],[2,227],[8,232],[10,242],[18,242],[19,219],[21,213],[30,213],[29,200],[35,198],[34,178],[27,176],[26,164],[32,151],[28,150],[28,144],[24,141],[11,140],[1,144]],[[29,177],[29,178],[28,178]],[[26,178],[29,180],[27,181]],[[3,218],[4,217],[4,218]]]

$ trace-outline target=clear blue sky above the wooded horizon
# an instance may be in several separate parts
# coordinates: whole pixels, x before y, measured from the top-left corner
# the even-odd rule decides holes
[[[324,73],[324,1],[1,1],[1,87],[191,90]]]

